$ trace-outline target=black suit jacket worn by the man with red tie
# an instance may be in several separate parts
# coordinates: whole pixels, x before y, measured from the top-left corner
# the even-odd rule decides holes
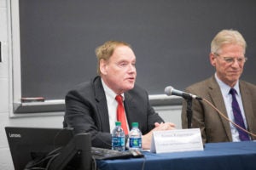
[[[129,127],[138,122],[143,134],[154,128],[154,122],[164,122],[148,102],[148,93],[137,85],[125,93],[125,113]],[[84,82],[68,92],[64,127],[75,133],[90,133],[92,146],[111,148],[108,105],[101,77]]]

